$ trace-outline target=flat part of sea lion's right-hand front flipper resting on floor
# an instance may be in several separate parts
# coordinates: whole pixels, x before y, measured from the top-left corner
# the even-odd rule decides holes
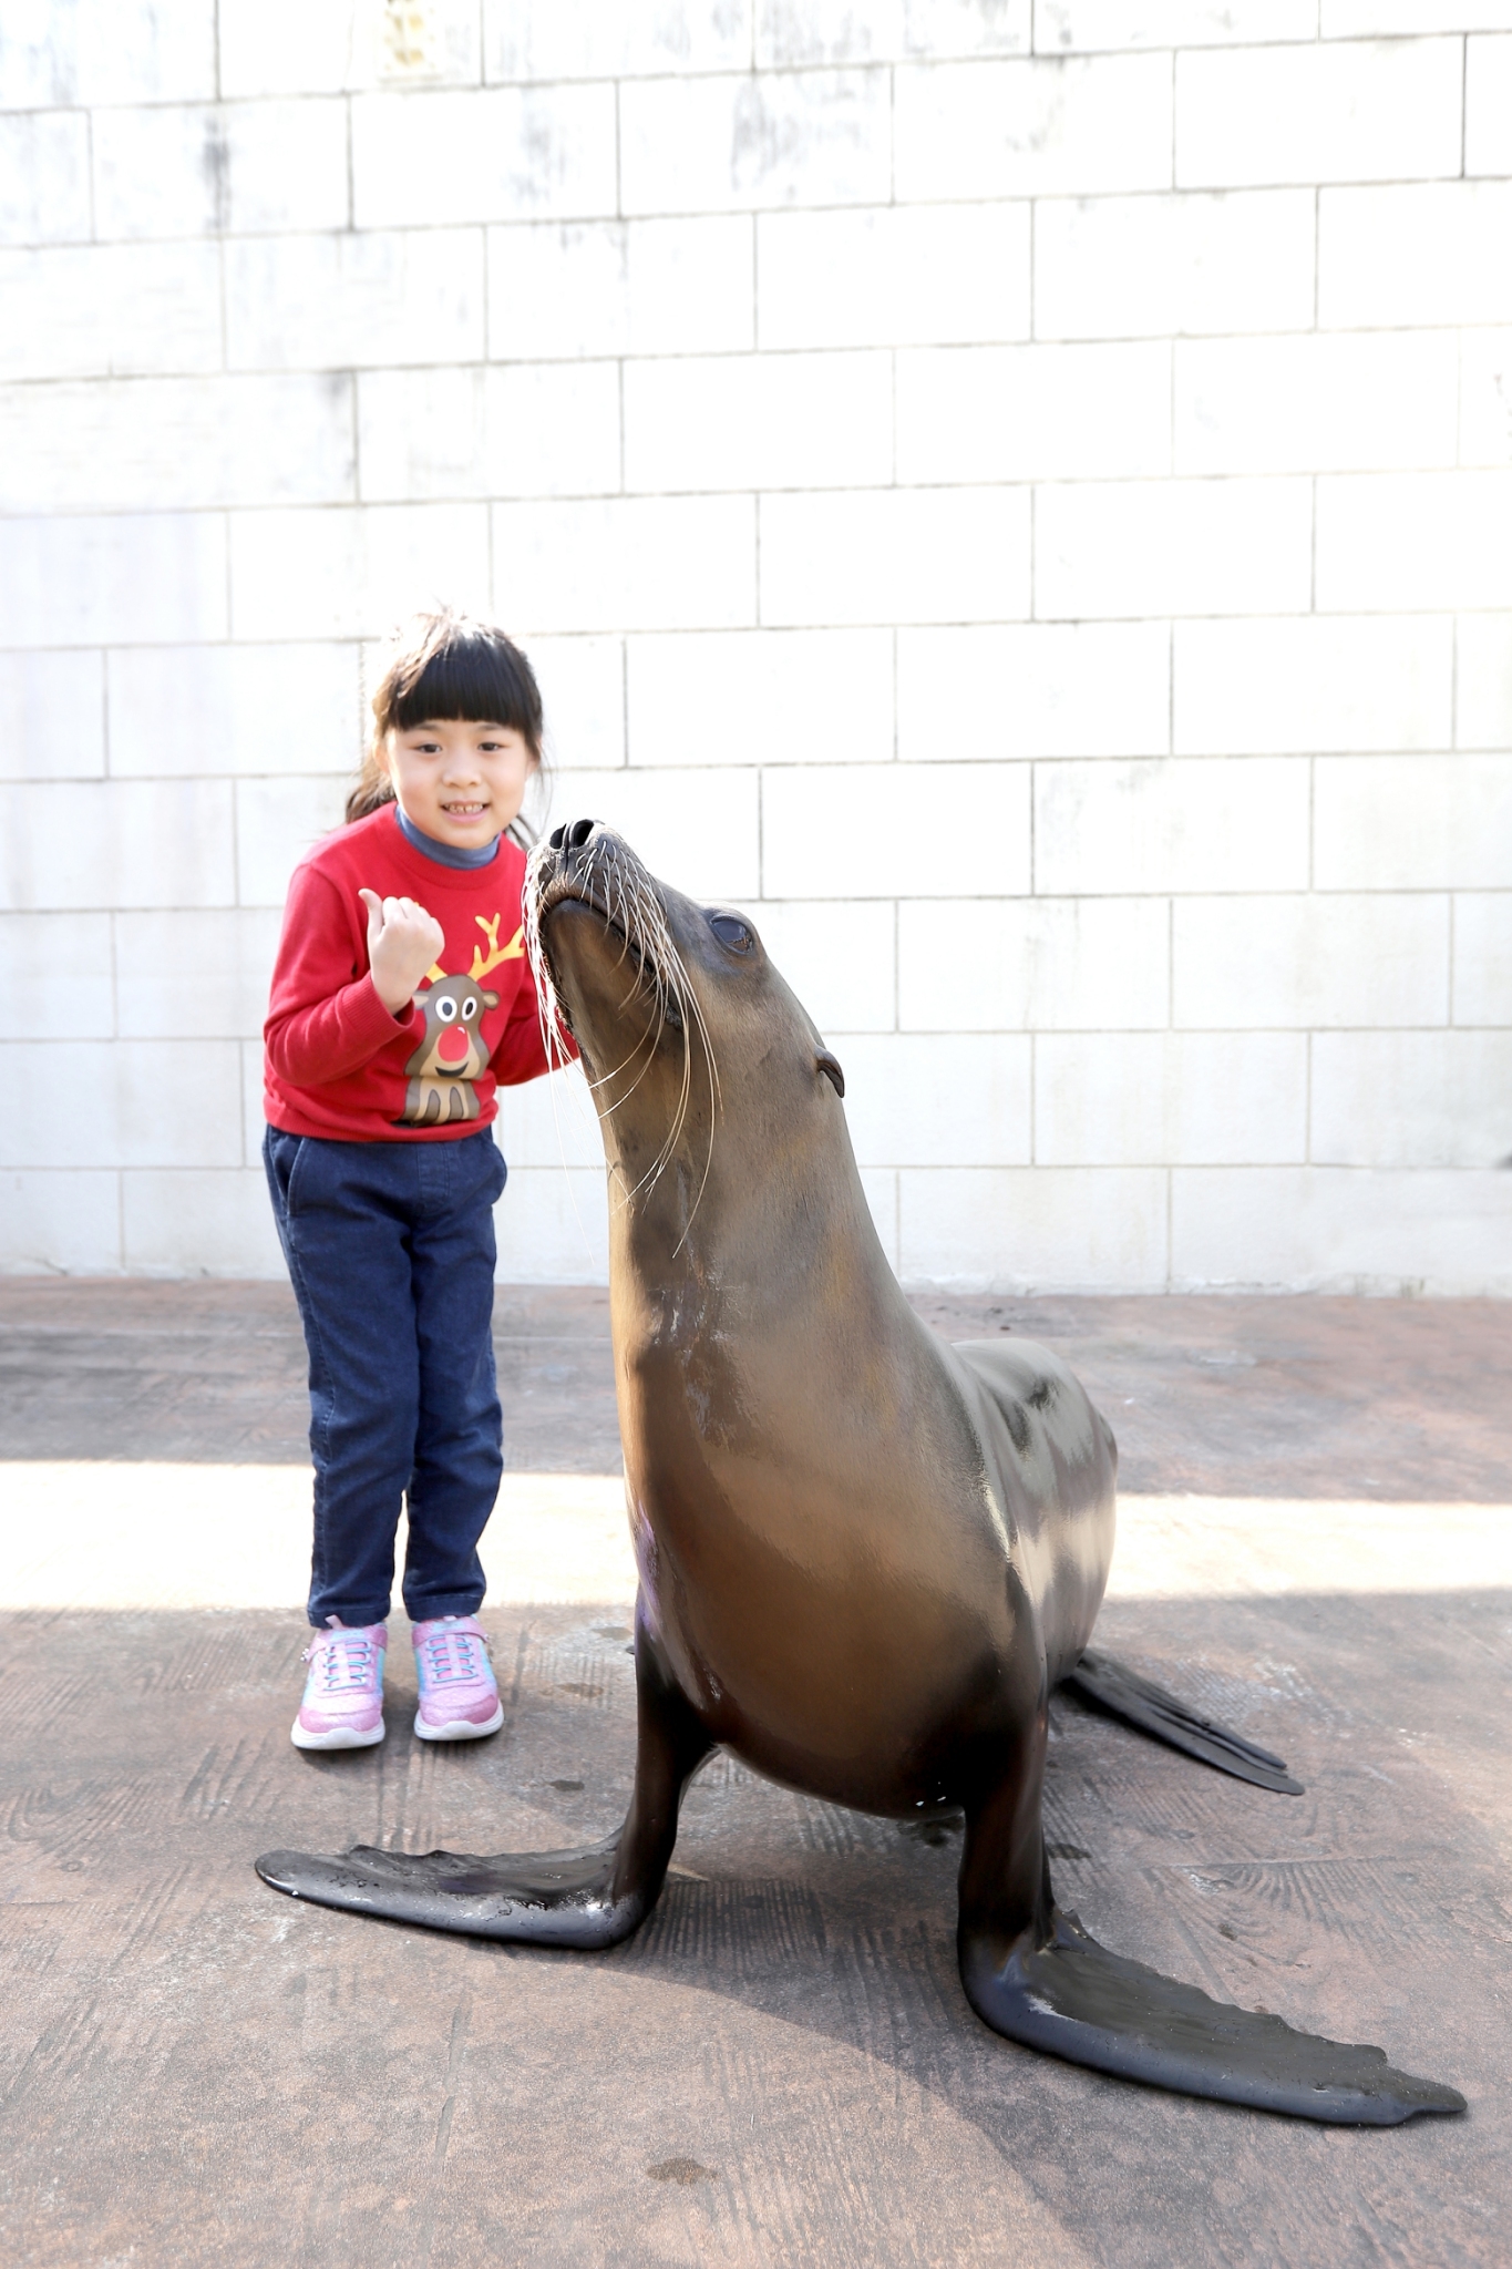
[[[968,2001],[1027,2049],[1331,2126],[1401,2126],[1419,2112],[1464,2110],[1458,2090],[1396,2072],[1383,2049],[1294,2033],[1281,2017],[1213,2001],[1197,1985],[1108,1954],[1059,1908],[1045,1945],[1036,1935],[993,1960],[986,1940],[961,1929]]]

